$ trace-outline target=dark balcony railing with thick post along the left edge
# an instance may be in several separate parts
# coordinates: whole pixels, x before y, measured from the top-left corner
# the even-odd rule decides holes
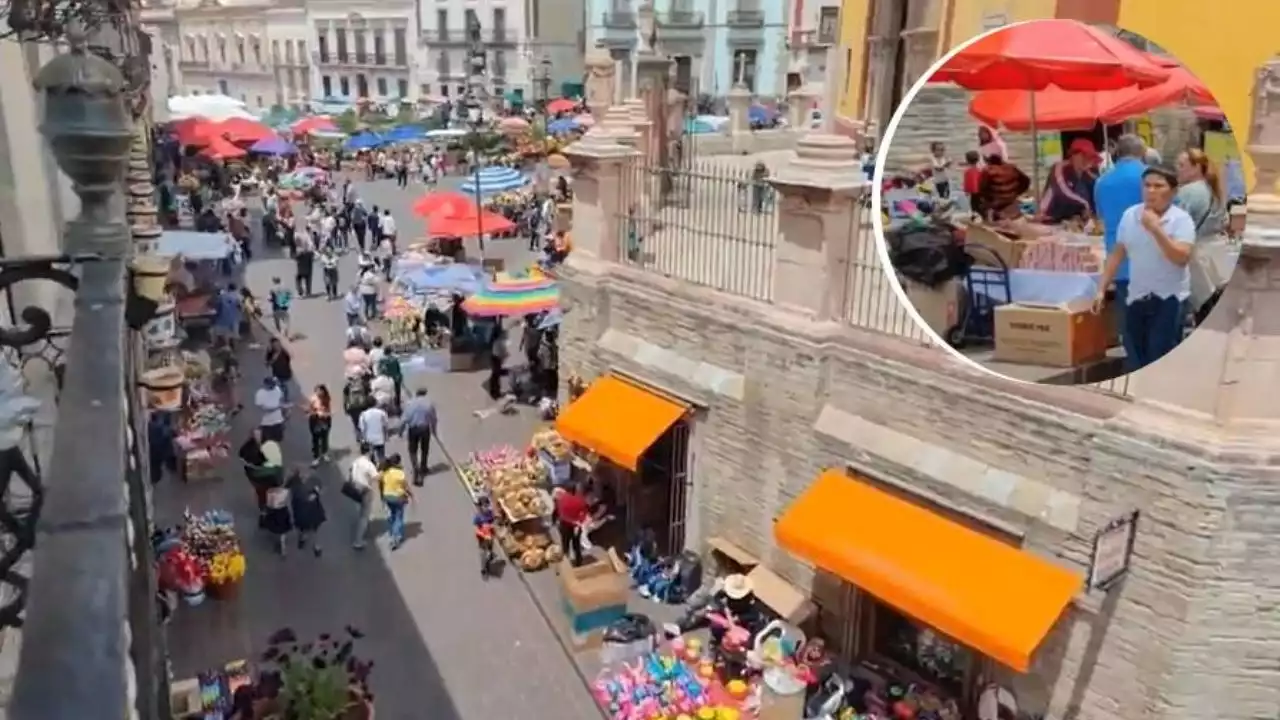
[[[40,70],[41,132],[81,213],[60,255],[0,259],[0,626],[20,628],[12,720],[172,717],[134,332],[157,304],[129,270],[134,242],[161,231],[148,133],[124,86],[83,47]],[[17,309],[19,288],[50,283],[74,293],[67,325],[47,301]]]

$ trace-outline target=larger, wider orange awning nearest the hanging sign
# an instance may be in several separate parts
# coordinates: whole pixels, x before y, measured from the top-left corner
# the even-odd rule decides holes
[[[1083,584],[842,470],[823,473],[773,533],[797,557],[1021,673]]]

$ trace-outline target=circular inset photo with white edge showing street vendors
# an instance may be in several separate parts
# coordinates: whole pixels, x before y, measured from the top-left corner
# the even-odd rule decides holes
[[[876,219],[937,340],[1014,379],[1108,380],[1208,316],[1243,231],[1240,151],[1210,88],[1076,20],[961,46],[899,106]]]

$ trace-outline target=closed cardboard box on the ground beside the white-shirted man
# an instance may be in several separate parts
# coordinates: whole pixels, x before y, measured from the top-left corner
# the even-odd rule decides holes
[[[1107,318],[1091,301],[1062,305],[1012,302],[996,309],[998,363],[1074,368],[1106,356]]]

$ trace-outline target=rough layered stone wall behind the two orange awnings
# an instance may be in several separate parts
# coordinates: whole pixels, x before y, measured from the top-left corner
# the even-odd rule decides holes
[[[820,469],[850,461],[1015,528],[1082,574],[1096,530],[1137,507],[1130,577],[1080,597],[1033,671],[1007,679],[1023,706],[1085,720],[1280,706],[1280,486],[1266,452],[1225,455],[1219,428],[1167,409],[1002,382],[937,350],[611,263],[580,258],[564,274],[566,370],[626,370],[707,406],[691,544],[726,537],[813,587],[772,523]]]

